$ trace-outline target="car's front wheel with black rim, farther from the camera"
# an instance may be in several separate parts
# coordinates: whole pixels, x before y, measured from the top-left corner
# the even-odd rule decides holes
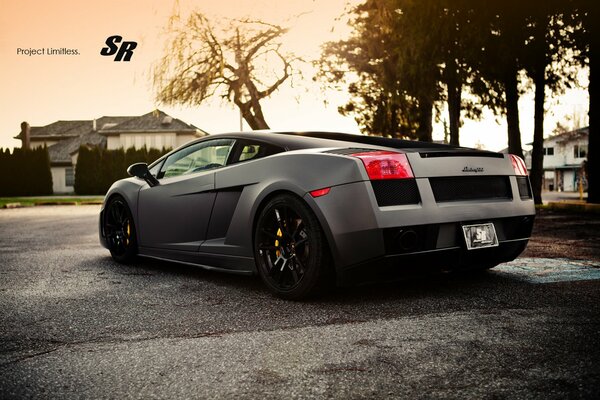
[[[121,196],[112,197],[104,208],[104,236],[110,255],[121,263],[130,263],[137,255],[137,235],[131,210]]]

